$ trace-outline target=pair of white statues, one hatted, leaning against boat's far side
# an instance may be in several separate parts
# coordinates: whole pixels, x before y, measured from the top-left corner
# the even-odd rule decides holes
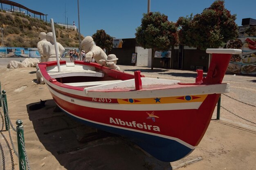
[[[120,71],[119,66],[116,65],[118,58],[114,54],[106,55],[106,53],[99,46],[94,44],[91,36],[86,36],[81,42],[81,49],[85,51],[85,61],[91,62],[92,57],[102,66]]]

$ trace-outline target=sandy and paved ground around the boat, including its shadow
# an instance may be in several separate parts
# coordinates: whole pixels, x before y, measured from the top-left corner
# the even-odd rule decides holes
[[[215,120],[215,110],[198,147],[188,157],[170,164],[148,155],[125,137],[95,133],[94,128],[74,121],[63,112],[54,111],[56,105],[47,87],[35,82],[36,68],[5,67],[0,59],[0,82],[2,90],[7,91],[9,116],[13,124],[17,119],[23,121],[32,170],[171,170],[198,157],[202,160],[179,170],[255,170],[256,108],[247,104],[256,106],[256,77],[225,75],[223,82],[229,82],[231,86],[227,95],[247,104],[222,95],[221,105],[243,119],[221,108],[220,120]],[[196,77],[194,71],[159,68],[151,71],[147,67],[135,66],[120,68],[127,73],[141,70],[146,77],[182,82],[194,82]],[[28,107],[40,99],[47,100],[46,107],[30,111]],[[2,108],[0,111],[2,113]],[[8,138],[8,132],[2,133]],[[11,136],[17,148],[16,132],[11,130]],[[5,148],[5,165],[9,170],[9,151],[1,135],[0,143]],[[15,170],[18,170],[17,157],[13,157]],[[3,167],[2,161],[0,167]]]

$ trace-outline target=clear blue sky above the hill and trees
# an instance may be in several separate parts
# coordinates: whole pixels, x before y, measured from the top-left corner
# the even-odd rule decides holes
[[[77,0],[12,1],[48,14],[47,20],[53,18],[54,22],[65,23],[66,17],[69,24],[74,21],[78,27]],[[180,16],[201,13],[214,0],[150,0],[150,2],[150,11],[164,13],[169,21],[176,22]],[[231,11],[231,14],[237,14],[238,26],[241,26],[243,18],[256,19],[256,0],[225,0],[225,7]],[[3,4],[3,8],[11,7]],[[115,38],[135,38],[135,29],[140,26],[142,14],[147,13],[147,8],[148,0],[79,0],[81,34],[92,35],[97,30],[103,29]]]

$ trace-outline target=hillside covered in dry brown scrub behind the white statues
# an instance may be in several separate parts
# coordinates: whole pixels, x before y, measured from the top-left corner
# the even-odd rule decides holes
[[[4,46],[12,47],[36,47],[40,41],[38,38],[40,32],[52,32],[50,23],[17,12],[0,11],[0,26],[4,28]],[[69,38],[67,38],[65,26],[54,24],[54,28],[57,42],[63,46],[79,47],[79,33],[76,30],[69,29]],[[83,40],[83,35],[81,35],[81,40]],[[2,46],[2,40],[0,45]]]

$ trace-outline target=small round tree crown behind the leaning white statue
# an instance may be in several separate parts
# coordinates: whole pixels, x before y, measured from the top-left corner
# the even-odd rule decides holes
[[[101,49],[106,49],[108,51],[112,49],[114,38],[108,35],[105,30],[97,30],[97,32],[92,35],[92,38],[95,44],[101,47]]]

